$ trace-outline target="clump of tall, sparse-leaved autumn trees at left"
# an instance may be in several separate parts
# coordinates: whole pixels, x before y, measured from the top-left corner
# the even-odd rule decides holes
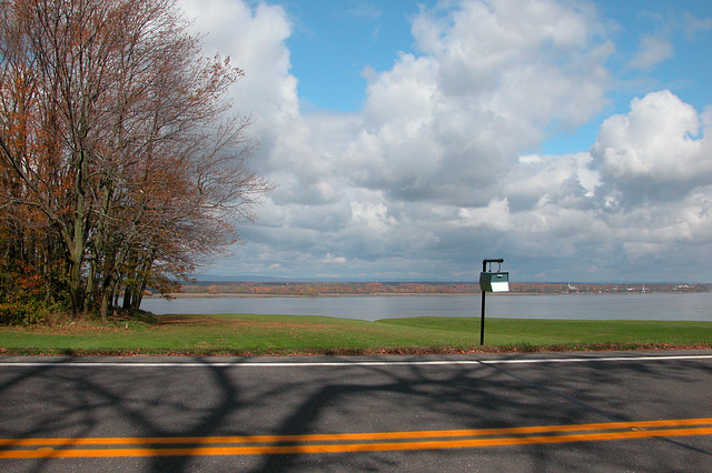
[[[270,184],[174,0],[0,0],[0,303],[137,309]],[[122,296],[122,298],[120,298]]]

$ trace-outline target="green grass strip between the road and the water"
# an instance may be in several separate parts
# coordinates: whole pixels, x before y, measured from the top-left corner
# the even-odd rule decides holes
[[[295,315],[161,315],[0,328],[3,354],[358,354],[481,351],[478,318],[366,322]],[[485,351],[712,348],[712,322],[488,319]]]

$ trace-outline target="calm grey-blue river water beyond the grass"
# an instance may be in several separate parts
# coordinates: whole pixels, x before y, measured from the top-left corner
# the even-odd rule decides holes
[[[291,314],[375,321],[411,316],[479,316],[479,295],[144,299],[155,314]],[[487,294],[487,318],[712,321],[712,293]]]

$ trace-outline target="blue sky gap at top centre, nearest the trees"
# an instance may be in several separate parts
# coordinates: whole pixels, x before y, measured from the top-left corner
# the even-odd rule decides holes
[[[434,4],[423,2],[422,6]],[[413,51],[411,19],[417,2],[287,1],[294,18],[291,72],[299,97],[315,109],[357,112],[366,97],[364,69],[384,71],[397,51]]]

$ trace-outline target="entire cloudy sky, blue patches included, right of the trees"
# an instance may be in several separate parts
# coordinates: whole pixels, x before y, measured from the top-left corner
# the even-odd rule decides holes
[[[277,189],[204,278],[712,282],[709,0],[179,0]]]

